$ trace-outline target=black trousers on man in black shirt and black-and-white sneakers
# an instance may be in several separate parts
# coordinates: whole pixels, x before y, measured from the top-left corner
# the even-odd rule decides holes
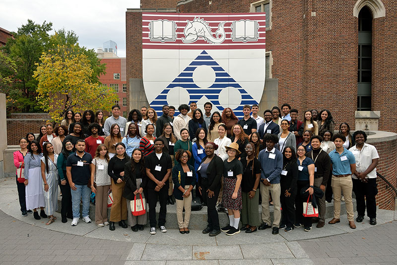
[[[156,227],[156,205],[157,198],[160,203],[160,212],[158,215],[158,227],[165,225],[165,215],[167,214],[168,185],[164,185],[160,191],[147,189],[147,202],[149,203],[149,223],[150,227]]]

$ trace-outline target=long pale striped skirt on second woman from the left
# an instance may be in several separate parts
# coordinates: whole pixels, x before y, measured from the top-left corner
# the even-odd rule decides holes
[[[46,206],[42,183],[41,167],[30,168],[28,185],[25,187],[26,209],[33,210]]]

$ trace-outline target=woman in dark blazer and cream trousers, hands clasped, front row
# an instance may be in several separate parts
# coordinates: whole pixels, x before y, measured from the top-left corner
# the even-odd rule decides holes
[[[177,203],[177,218],[179,232],[189,234],[188,228],[192,210],[193,188],[196,185],[196,171],[191,165],[188,165],[192,153],[188,150],[179,149],[175,153],[175,160],[178,164],[172,169],[172,181],[174,182],[174,197]],[[183,208],[185,208],[185,221],[183,219]]]

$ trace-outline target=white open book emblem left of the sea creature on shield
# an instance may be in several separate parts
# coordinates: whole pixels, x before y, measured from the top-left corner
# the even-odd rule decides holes
[[[149,38],[150,41],[176,41],[177,24],[175,21],[167,19],[152,20],[149,23]]]

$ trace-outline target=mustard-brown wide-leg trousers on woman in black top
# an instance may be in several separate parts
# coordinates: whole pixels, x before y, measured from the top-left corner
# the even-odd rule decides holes
[[[123,198],[125,182],[117,183],[112,179],[112,194],[113,194],[113,204],[110,209],[110,221],[119,222],[121,220],[127,220],[127,200]]]

